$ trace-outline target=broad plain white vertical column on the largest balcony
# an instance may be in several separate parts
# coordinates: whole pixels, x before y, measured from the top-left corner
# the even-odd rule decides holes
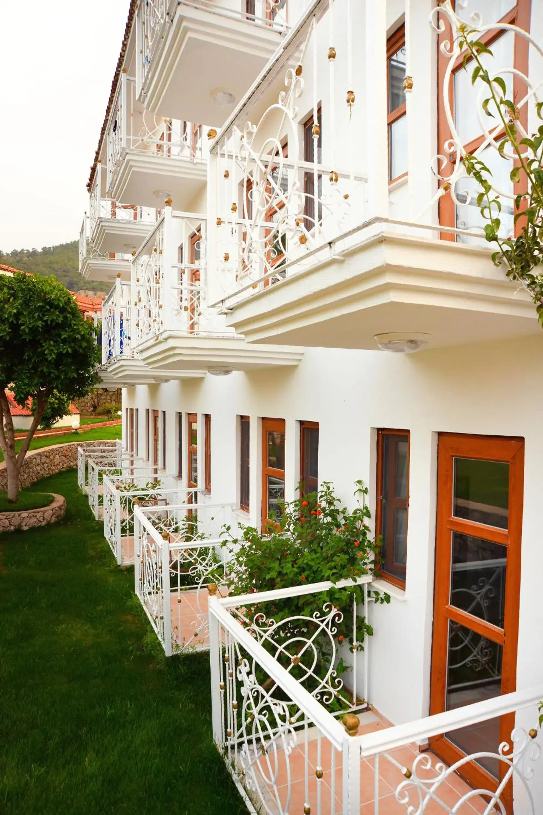
[[[368,218],[388,218],[387,0],[366,0]]]

